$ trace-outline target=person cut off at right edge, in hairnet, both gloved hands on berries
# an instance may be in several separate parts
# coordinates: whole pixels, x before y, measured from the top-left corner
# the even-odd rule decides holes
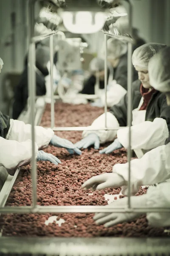
[[[170,105],[170,47],[162,49],[151,58],[149,62],[150,84],[155,89],[165,93],[167,104]],[[146,153],[141,159],[131,161],[131,192],[136,193],[139,186],[163,182],[170,178],[170,137],[165,145],[159,146]],[[124,186],[128,182],[128,163],[116,164],[113,166],[113,173],[105,173],[83,184],[85,189],[105,189],[108,187]],[[136,207],[170,207],[169,182],[161,183],[156,187],[149,187],[146,195],[131,197],[131,206]],[[127,189],[124,190],[127,195]],[[109,207],[125,207],[127,198],[113,202]],[[111,227],[123,221],[130,221],[141,215],[140,213],[99,213],[94,220],[97,224],[105,224]],[[147,213],[147,220],[153,226],[169,226],[170,214],[150,212]]]

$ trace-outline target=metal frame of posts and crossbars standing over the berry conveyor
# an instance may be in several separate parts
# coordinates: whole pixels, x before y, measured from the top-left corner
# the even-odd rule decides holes
[[[4,204],[1,204],[0,213],[47,213],[47,212],[113,212],[111,207],[103,207],[103,206],[38,206],[37,205],[37,168],[36,168],[36,159],[35,159],[35,38],[34,38],[34,3],[36,0],[29,0],[28,5],[28,14],[29,14],[29,48],[28,48],[28,87],[29,94],[31,100],[31,133],[32,133],[32,169],[31,169],[31,177],[32,177],[32,187],[33,187],[33,199],[32,206],[30,207],[3,207]],[[130,6],[130,28],[132,24],[132,6]],[[49,35],[50,36],[50,35]],[[42,38],[43,39],[43,38]],[[107,128],[107,35],[105,35],[105,130],[109,130]],[[146,212],[146,208],[131,208],[130,204],[130,160],[131,160],[131,123],[132,123],[132,102],[131,102],[131,89],[132,89],[132,44],[128,43],[128,82],[127,82],[127,93],[128,93],[128,109],[127,109],[127,121],[129,127],[129,147],[127,151],[127,158],[129,163],[129,182],[128,182],[128,204],[125,208],[116,207],[114,209],[115,212]],[[55,128],[54,127],[54,95],[53,95],[53,38],[50,39],[50,62],[51,62],[51,128],[54,131],[75,131],[81,130],[82,128],[65,127]],[[89,128],[86,128],[89,130]],[[85,128],[83,128],[85,130]],[[168,208],[156,208],[150,207],[147,208],[147,212],[170,212]]]

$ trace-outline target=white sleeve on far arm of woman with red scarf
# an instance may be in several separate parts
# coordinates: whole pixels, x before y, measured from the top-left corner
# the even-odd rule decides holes
[[[101,116],[99,116],[97,119],[94,120],[91,126],[91,128],[102,129],[105,128],[105,113],[103,113]],[[107,112],[107,127],[108,129],[118,129],[119,128],[119,122],[117,121],[116,117],[110,113]],[[105,131],[105,130],[99,130],[99,131],[83,131],[82,137],[85,138],[88,136],[88,134],[95,133],[99,136],[100,143],[105,143],[108,141],[114,140],[117,131]]]

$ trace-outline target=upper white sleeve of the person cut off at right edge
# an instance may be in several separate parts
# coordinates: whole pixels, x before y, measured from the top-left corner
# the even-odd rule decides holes
[[[139,186],[152,185],[170,178],[170,143],[159,146],[144,154],[141,159],[130,162],[131,192],[135,194]],[[121,175],[128,182],[128,163],[116,164],[113,172]],[[123,187],[126,195],[127,187]]]

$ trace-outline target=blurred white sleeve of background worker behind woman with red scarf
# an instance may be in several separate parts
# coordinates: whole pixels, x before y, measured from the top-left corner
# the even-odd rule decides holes
[[[113,81],[112,81],[113,82]],[[119,101],[125,96],[127,90],[125,90],[120,84],[113,83],[107,91],[107,105],[111,108],[113,105],[119,103]],[[105,105],[105,93],[100,96],[103,106]]]

